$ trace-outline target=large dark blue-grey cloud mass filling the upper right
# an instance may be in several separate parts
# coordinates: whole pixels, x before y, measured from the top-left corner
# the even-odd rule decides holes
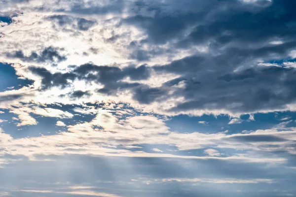
[[[148,40],[154,44],[179,39],[173,44],[177,48],[209,46],[206,55],[196,54],[168,65],[154,66],[158,72],[176,73],[181,77],[157,89],[142,91],[141,98],[135,98],[143,103],[160,96],[163,99],[167,86],[183,81],[185,88],[172,96],[184,96],[186,101],[171,111],[226,109],[253,112],[281,109],[294,103],[295,69],[258,66],[258,61],[292,59],[289,53],[296,49],[296,14],[293,11],[296,2],[216,3],[210,7],[200,3],[205,12],[169,15],[159,8],[154,17],[137,15],[125,20],[145,30]],[[207,10],[209,8],[211,10]],[[276,40],[283,43],[270,43]],[[239,71],[234,71],[237,68]]]

